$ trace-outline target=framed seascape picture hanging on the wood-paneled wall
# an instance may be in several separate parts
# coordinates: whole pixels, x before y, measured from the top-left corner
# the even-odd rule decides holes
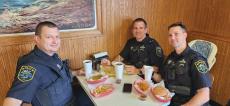
[[[1,0],[0,36],[34,32],[42,21],[61,31],[97,29],[96,0]]]

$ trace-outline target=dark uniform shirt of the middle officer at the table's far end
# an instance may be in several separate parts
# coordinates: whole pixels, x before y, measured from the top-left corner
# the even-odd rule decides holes
[[[141,42],[135,38],[129,39],[120,56],[124,58],[124,63],[134,65],[136,68],[142,68],[143,65],[161,67],[164,60],[160,45],[148,34]]]

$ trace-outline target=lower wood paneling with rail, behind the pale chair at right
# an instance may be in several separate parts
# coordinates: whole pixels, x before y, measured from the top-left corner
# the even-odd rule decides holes
[[[208,33],[202,32],[191,32],[188,41],[193,39],[204,39],[215,43],[218,47],[216,55],[216,63],[211,69],[211,73],[214,75],[215,81],[211,89],[211,99],[226,105],[230,98],[230,69],[228,68],[230,64],[230,41],[223,40],[222,38],[216,37],[219,35],[210,35]]]

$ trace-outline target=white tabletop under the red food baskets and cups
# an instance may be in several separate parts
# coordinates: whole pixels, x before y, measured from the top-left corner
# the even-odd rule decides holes
[[[123,85],[124,83],[132,83],[140,78],[138,75],[124,75],[124,78],[120,84],[115,83],[115,78],[110,77],[105,82],[102,83],[112,83],[115,87],[114,91],[106,95],[104,97],[93,97],[90,94],[90,88],[95,85],[88,84],[84,76],[77,76],[81,86],[93,101],[96,106],[165,106],[167,104],[163,104],[157,101],[151,93],[148,93],[147,99],[142,101],[138,99],[138,93],[134,88],[132,88],[132,93],[123,93]]]

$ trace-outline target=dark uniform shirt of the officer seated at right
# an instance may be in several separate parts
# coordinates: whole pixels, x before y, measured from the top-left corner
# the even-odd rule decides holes
[[[163,78],[167,86],[190,88],[190,96],[200,88],[211,87],[206,59],[189,46],[181,53],[172,52],[164,63]]]

